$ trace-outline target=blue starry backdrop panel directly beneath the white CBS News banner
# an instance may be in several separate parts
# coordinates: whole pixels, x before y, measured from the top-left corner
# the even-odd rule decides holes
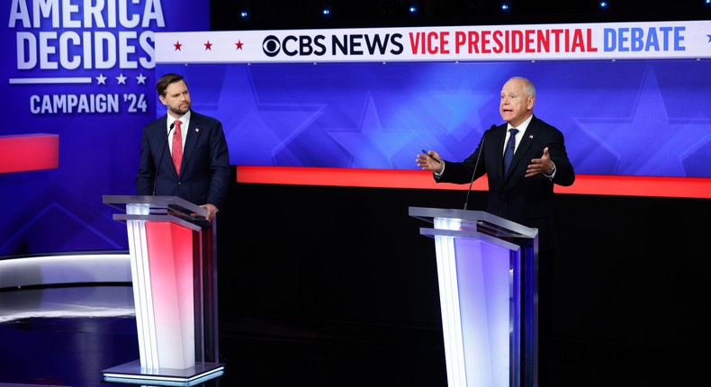
[[[690,59],[158,65],[219,117],[230,162],[414,169],[421,148],[468,156],[509,76],[563,133],[579,174],[709,177],[711,67]]]

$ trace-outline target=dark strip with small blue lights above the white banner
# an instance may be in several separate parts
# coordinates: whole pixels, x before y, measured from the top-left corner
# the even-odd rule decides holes
[[[211,30],[708,20],[706,0],[212,0]],[[410,4],[418,12],[410,14]],[[503,11],[501,4],[509,4]],[[328,7],[329,16],[321,11]],[[247,10],[247,18],[239,13]]]

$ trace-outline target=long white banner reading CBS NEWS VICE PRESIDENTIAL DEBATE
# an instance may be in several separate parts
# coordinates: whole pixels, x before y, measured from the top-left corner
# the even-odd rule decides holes
[[[711,58],[711,22],[157,32],[157,63]]]

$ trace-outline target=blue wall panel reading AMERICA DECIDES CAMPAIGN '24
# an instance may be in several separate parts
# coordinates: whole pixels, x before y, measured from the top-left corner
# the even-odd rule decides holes
[[[47,3],[0,5],[0,137],[59,136],[57,169],[0,174],[0,256],[128,249],[125,225],[102,195],[136,192],[141,128],[165,113],[157,110],[153,33],[208,30],[209,7]]]

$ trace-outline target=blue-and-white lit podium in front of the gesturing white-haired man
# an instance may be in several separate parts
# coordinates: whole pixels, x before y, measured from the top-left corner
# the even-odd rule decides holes
[[[484,211],[410,207],[432,228],[449,387],[537,386],[538,230]]]

